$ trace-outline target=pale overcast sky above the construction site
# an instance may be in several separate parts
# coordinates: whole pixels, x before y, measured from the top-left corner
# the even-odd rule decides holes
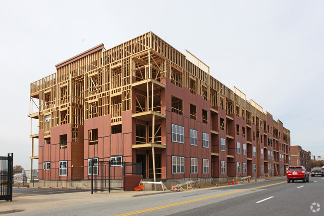
[[[323,11],[322,0],[0,0],[0,156],[30,169],[31,82],[152,31],[282,121],[291,145],[324,157]]]

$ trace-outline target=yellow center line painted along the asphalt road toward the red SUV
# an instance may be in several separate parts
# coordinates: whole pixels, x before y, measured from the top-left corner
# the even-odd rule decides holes
[[[209,197],[202,197],[202,198],[198,198],[198,199],[194,199],[194,200],[183,201],[183,202],[180,202],[180,203],[173,203],[173,204],[169,204],[169,205],[165,205],[165,206],[155,207],[155,208],[152,208],[152,209],[146,209],[146,210],[141,210],[141,211],[137,211],[137,212],[125,213],[125,214],[117,215],[117,216],[136,215],[136,214],[150,212],[150,211],[159,210],[159,209],[164,209],[164,208],[168,208],[168,207],[172,207],[172,206],[178,206],[178,205],[182,205],[182,204],[187,204],[187,203],[192,203],[192,202],[196,202],[196,201],[206,200],[206,199],[210,199],[210,198],[214,198],[214,197],[220,197],[220,196],[234,194],[234,193],[238,193],[238,192],[270,187],[270,186],[279,185],[279,184],[283,184],[283,183],[286,183],[286,182],[280,182],[280,183],[276,183],[276,184],[272,184],[272,185],[266,185],[266,186],[260,186],[260,187],[256,187],[256,188],[242,189],[242,190],[238,190],[238,191],[232,191],[232,192],[213,195],[213,196],[209,196]]]

